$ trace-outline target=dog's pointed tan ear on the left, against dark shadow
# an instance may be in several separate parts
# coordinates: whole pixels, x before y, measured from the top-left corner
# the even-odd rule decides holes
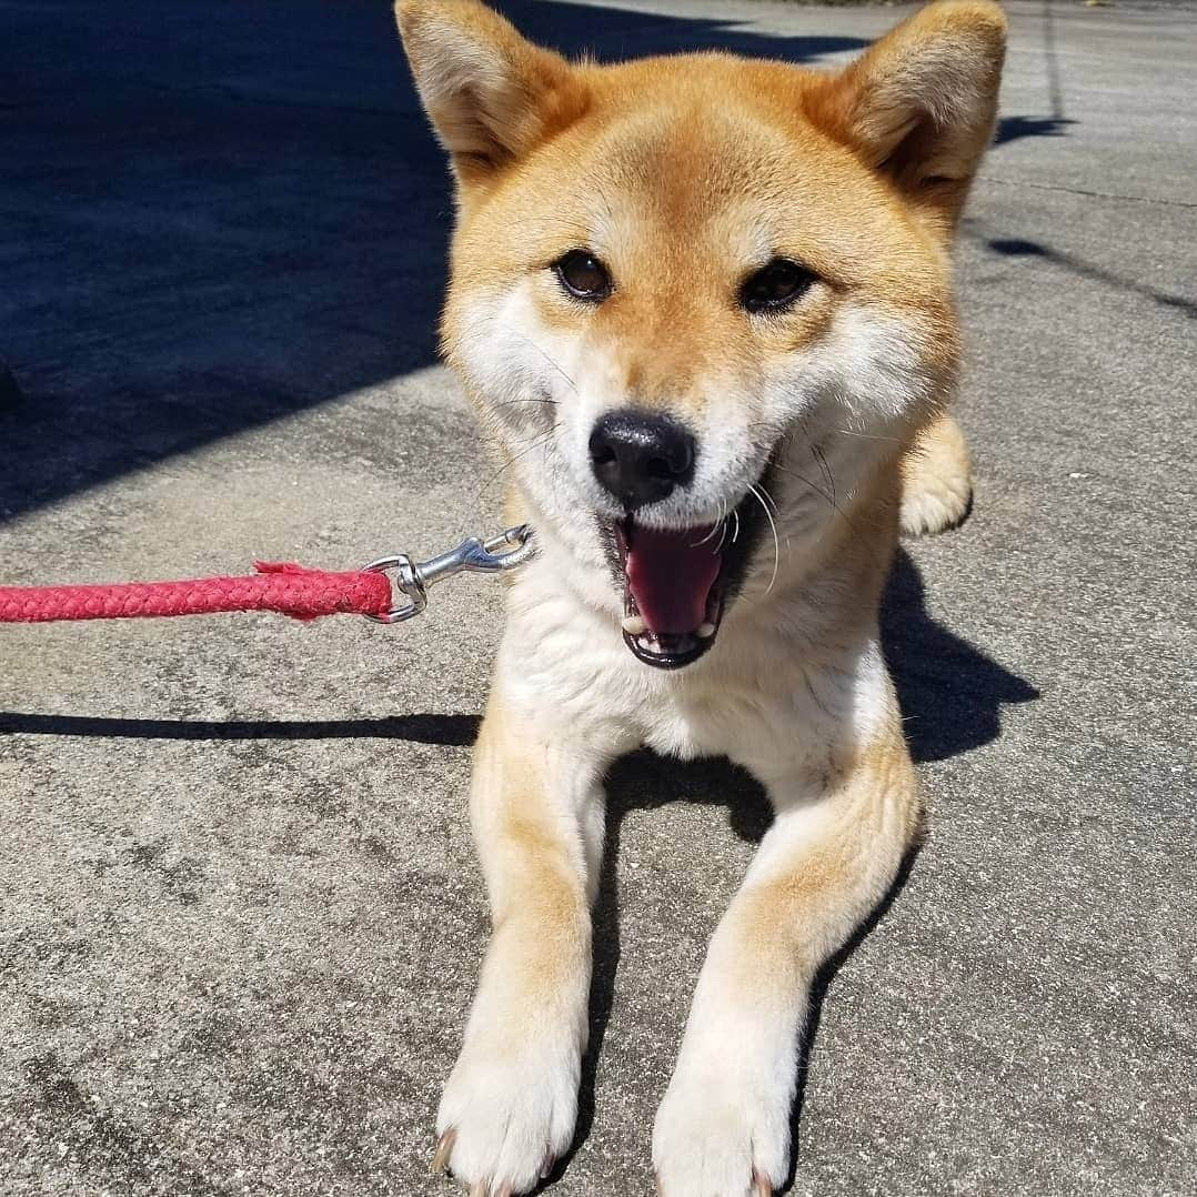
[[[482,182],[584,107],[559,54],[478,0],[395,5],[415,87],[462,183]]]

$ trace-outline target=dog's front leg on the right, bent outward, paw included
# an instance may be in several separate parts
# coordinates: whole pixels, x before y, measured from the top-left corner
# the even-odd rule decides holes
[[[810,983],[885,894],[918,822],[897,731],[831,777],[807,765],[762,780],[777,819],[711,940],[654,1126],[663,1197],[784,1183]]]

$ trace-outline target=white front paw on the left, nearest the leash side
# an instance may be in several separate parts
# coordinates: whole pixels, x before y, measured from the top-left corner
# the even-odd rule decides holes
[[[470,1197],[530,1192],[573,1138],[581,1045],[540,1029],[534,1045],[467,1041],[445,1086],[432,1171]]]

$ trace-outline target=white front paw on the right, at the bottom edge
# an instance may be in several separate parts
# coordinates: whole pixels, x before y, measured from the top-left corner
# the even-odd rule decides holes
[[[661,1197],[771,1197],[790,1162],[790,1102],[745,1078],[675,1074],[652,1128]]]

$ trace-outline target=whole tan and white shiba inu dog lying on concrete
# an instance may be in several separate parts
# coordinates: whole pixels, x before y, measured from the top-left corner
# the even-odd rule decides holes
[[[970,502],[949,248],[1005,23],[934,4],[822,73],[570,63],[478,0],[397,16],[456,180],[446,357],[539,543],[476,747],[493,935],[433,1163],[506,1197],[569,1148],[602,780],[649,745],[730,757],[776,812],[698,980],[656,1183],[770,1193],[812,978],[919,824],[877,607],[899,529]]]

